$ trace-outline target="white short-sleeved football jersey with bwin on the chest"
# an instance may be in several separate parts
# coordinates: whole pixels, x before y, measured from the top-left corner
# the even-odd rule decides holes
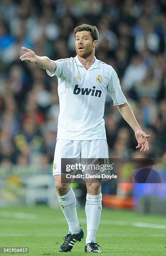
[[[49,76],[58,77],[60,113],[57,138],[66,140],[106,139],[103,119],[107,92],[114,105],[124,104],[115,70],[95,58],[87,70],[78,57],[59,59],[56,71]]]

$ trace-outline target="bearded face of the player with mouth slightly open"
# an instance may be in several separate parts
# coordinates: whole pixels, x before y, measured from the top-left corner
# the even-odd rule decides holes
[[[76,53],[86,59],[94,51],[97,40],[93,41],[90,31],[80,31],[75,36]]]

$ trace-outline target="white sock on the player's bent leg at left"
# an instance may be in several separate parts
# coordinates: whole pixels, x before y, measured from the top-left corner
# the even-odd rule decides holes
[[[64,213],[69,225],[69,230],[72,232],[72,234],[77,233],[80,230],[80,225],[77,218],[76,196],[73,189],[70,188],[69,192],[62,197],[59,195],[57,196],[61,210]]]

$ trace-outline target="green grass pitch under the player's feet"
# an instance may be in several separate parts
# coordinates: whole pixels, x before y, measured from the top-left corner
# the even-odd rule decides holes
[[[78,210],[78,216],[86,236],[84,209]],[[59,253],[67,231],[60,209],[46,206],[0,208],[0,247],[29,247],[29,253],[14,255],[69,255]],[[96,241],[102,246],[102,255],[166,256],[166,218],[103,208]],[[84,244],[85,238],[74,245],[70,255],[87,255]],[[11,254],[1,253],[0,256]]]

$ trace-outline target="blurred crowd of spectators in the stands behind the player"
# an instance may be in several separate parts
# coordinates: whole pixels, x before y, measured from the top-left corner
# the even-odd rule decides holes
[[[50,164],[54,158],[59,99],[57,78],[21,62],[21,46],[39,56],[75,56],[74,27],[97,26],[96,57],[116,70],[143,131],[146,154],[112,99],[105,103],[110,157],[157,157],[166,152],[165,0],[1,0],[0,163]]]

